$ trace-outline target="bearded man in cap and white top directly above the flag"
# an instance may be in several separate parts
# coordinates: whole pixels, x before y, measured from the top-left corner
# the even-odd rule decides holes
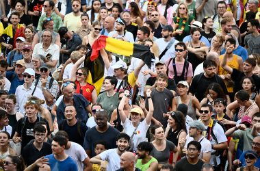
[[[125,21],[121,18],[117,18],[115,30],[109,32],[108,36],[112,38],[122,38],[126,42],[135,42],[133,40],[133,34],[125,29]]]

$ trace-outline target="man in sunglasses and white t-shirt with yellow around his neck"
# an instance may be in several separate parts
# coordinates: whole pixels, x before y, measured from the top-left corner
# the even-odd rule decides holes
[[[205,127],[205,138],[211,142],[210,162],[216,170],[220,170],[220,150],[225,150],[227,146],[224,130],[216,120],[211,119],[213,107],[207,103],[201,105],[199,110],[201,121]]]

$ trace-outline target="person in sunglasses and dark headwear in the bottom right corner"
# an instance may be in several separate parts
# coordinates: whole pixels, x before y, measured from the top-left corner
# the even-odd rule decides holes
[[[246,160],[246,166],[237,168],[236,171],[243,171],[243,170],[259,171],[259,168],[255,167],[255,163],[257,162],[257,160],[259,158],[255,151],[247,150],[244,153],[244,157]]]

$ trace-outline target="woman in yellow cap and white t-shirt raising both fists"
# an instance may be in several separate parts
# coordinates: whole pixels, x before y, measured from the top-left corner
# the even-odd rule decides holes
[[[146,132],[151,124],[151,120],[153,117],[153,101],[151,98],[151,90],[148,89],[146,91],[146,98],[148,98],[149,111],[147,112],[144,108],[144,103],[142,103],[141,107],[135,107],[131,109],[130,116],[131,120],[127,118],[124,111],[125,101],[129,97],[130,92],[125,90],[125,96],[122,97],[122,100],[119,103],[118,111],[121,118],[122,127],[124,127],[124,132],[127,133],[133,139],[133,150],[137,150],[137,146],[140,142],[147,141],[146,140]],[[142,122],[140,119],[146,113],[146,117]]]

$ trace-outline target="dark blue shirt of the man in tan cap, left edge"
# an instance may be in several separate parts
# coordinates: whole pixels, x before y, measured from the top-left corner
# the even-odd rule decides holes
[[[24,79],[19,79],[15,72],[6,72],[6,78],[11,82],[8,94],[15,94],[16,88],[25,83]]]

